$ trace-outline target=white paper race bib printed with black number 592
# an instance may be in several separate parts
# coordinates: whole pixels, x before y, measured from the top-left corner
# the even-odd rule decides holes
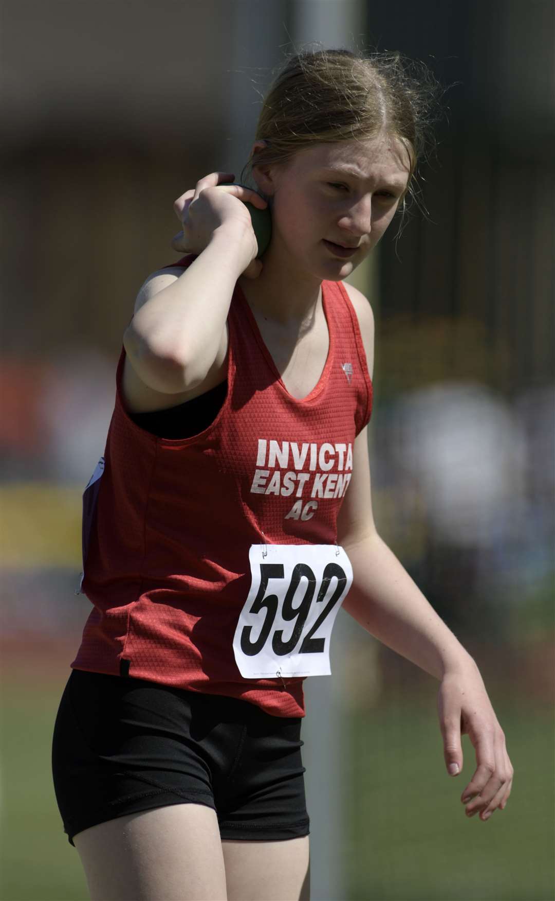
[[[233,639],[244,678],[329,676],[329,642],[353,569],[336,544],[252,544]]]

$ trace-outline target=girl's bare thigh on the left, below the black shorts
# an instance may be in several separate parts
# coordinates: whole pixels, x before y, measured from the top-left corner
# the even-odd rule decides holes
[[[120,816],[74,837],[92,901],[226,901],[218,818],[180,804]]]

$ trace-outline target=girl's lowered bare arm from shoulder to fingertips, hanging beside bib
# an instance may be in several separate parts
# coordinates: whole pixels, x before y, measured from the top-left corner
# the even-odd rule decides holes
[[[373,360],[373,317],[366,298],[346,286],[358,315],[366,359]],[[382,541],[371,509],[367,429],[354,442],[353,477],[337,517],[337,542],[353,566],[353,586],[343,606],[367,632],[440,680],[437,698],[445,765],[461,772],[461,734],[476,749],[477,769],[462,793],[467,815],[483,821],[503,810],[513,783],[505,734],[478,666],[443,623],[406,569]],[[452,770],[456,765],[457,769]],[[470,803],[468,803],[470,801]]]

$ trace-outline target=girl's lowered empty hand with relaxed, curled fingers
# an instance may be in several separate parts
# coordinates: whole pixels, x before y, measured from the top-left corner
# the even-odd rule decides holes
[[[462,770],[461,735],[468,733],[476,749],[478,766],[462,792],[461,802],[466,805],[468,816],[479,813],[482,822],[486,822],[497,807],[505,809],[514,769],[506,752],[505,733],[473,661],[445,672],[437,708],[447,771],[452,763],[458,765],[459,772]]]

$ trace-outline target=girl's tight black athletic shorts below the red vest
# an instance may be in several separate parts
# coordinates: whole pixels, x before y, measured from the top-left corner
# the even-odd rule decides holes
[[[222,839],[308,835],[300,724],[234,697],[72,670],[52,744],[69,842],[115,817],[185,803],[215,810]]]

